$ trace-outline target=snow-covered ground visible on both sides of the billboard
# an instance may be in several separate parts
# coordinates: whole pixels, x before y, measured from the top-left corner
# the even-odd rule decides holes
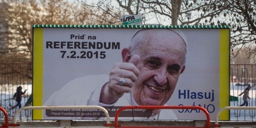
[[[234,84],[230,84],[230,95],[238,97],[238,95],[243,92],[243,90],[247,86],[236,86]],[[252,85],[252,84],[251,84]],[[4,88],[0,88],[1,93],[1,106],[7,110],[7,113],[9,115],[9,120],[13,119],[13,116],[15,114],[16,109],[11,109],[11,106],[14,106],[15,100],[13,100],[13,94],[16,91],[17,86],[5,86]],[[26,103],[27,99],[29,98],[29,95],[31,95],[32,92],[32,85],[22,85],[22,91],[26,90],[26,94],[24,97],[22,97],[22,106]],[[6,92],[5,92],[5,91]],[[249,100],[249,106],[256,106],[256,89],[255,87],[252,87],[252,89],[249,91],[249,96],[252,97],[252,99]],[[239,106],[240,104],[243,104],[243,98],[238,97],[238,101],[230,102],[230,106]],[[20,120],[31,120],[31,110],[25,110],[22,111],[20,114],[21,116],[18,117]],[[256,121],[256,110],[230,110],[230,120],[232,121]],[[0,113],[0,120],[4,120],[3,113]]]

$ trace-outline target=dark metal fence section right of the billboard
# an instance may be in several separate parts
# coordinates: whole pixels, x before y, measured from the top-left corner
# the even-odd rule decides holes
[[[230,106],[244,103],[243,93],[249,87],[248,106],[256,106],[256,64],[230,65]],[[256,121],[256,110],[230,110],[230,120]]]

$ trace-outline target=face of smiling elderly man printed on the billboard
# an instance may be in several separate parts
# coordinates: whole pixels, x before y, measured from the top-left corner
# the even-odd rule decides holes
[[[143,30],[132,41],[141,58],[140,73],[132,87],[138,105],[162,106],[172,96],[179,75],[185,69],[185,42],[170,30]]]

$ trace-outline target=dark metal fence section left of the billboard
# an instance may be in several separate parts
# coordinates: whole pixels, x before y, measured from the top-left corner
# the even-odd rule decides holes
[[[19,106],[15,107],[17,102],[13,95],[17,88],[21,86],[22,95],[21,105],[31,106],[32,94],[32,64],[0,64],[0,105],[7,111],[9,120],[13,119]],[[31,110],[25,110],[20,113],[19,119],[31,119]],[[0,120],[4,120],[3,113],[0,114]]]

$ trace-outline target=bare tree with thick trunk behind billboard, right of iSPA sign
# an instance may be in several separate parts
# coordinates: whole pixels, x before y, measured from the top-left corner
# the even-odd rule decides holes
[[[227,8],[226,0],[141,0],[151,12],[164,15],[172,25],[198,25],[212,21]],[[186,16],[190,15],[190,17]]]

